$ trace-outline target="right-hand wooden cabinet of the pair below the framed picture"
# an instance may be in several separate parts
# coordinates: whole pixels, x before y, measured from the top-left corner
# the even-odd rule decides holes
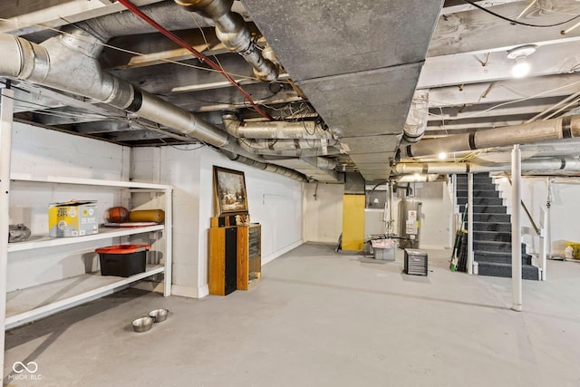
[[[262,274],[262,228],[259,224],[237,227],[237,288],[249,290]]]

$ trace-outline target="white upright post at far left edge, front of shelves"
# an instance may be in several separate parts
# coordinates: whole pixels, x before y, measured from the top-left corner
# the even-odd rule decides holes
[[[0,372],[4,381],[4,350],[6,320],[6,271],[8,267],[8,232],[10,209],[10,153],[12,147],[12,118],[14,111],[14,92],[10,89],[0,91]]]

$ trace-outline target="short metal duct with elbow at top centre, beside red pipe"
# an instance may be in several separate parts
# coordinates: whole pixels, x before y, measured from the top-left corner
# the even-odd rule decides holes
[[[175,0],[178,5],[192,13],[198,13],[216,24],[218,39],[229,50],[242,55],[254,68],[261,81],[272,82],[278,77],[278,68],[262,56],[257,44],[252,41],[246,22],[241,15],[232,12],[234,0]]]

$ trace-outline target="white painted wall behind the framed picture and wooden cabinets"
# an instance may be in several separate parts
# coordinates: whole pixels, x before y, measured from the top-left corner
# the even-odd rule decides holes
[[[294,179],[249,167],[208,147],[133,149],[131,175],[174,186],[173,291],[208,295],[208,228],[215,216],[213,166],[244,171],[251,221],[262,226],[262,264],[303,243],[303,185]]]

